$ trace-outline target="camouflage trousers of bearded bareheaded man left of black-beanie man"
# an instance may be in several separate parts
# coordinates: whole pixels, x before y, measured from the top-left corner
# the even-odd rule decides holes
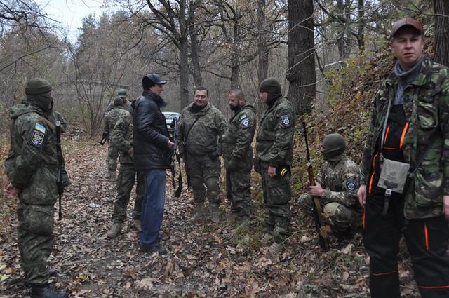
[[[226,192],[232,203],[233,213],[240,216],[251,215],[251,170],[227,170]]]

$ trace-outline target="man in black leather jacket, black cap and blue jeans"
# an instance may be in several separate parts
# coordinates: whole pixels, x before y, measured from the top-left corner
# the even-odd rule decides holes
[[[143,77],[143,93],[135,102],[133,118],[135,170],[145,177],[140,250],[159,254],[167,252],[159,245],[159,230],[166,196],[166,169],[170,168],[173,147],[168,137],[166,118],[161,112],[161,107],[166,106],[160,96],[165,83],[159,74]]]

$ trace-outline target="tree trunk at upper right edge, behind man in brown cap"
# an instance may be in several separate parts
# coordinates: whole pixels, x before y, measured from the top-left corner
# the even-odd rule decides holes
[[[449,67],[449,1],[434,0],[435,62]]]

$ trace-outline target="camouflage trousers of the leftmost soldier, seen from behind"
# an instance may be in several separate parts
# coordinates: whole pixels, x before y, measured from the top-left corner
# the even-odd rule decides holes
[[[53,249],[53,205],[19,203],[18,246],[25,282],[33,285],[47,283],[47,259]]]

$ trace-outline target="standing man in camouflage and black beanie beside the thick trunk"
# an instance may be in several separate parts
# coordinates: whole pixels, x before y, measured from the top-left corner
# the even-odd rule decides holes
[[[293,158],[295,116],[292,104],[282,96],[281,84],[269,78],[260,83],[260,99],[267,104],[256,137],[254,169],[262,176],[264,203],[269,210],[270,251],[281,250],[290,233],[290,165]]]

